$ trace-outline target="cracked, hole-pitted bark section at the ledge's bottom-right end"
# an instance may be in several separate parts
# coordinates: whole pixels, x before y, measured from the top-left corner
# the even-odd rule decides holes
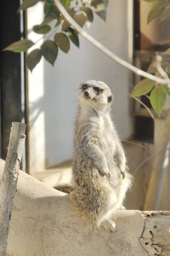
[[[149,256],[170,255],[170,212],[143,211],[144,230],[139,238]]]

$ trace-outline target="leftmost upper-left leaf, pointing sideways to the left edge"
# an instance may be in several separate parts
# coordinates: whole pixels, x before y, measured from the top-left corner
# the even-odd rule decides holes
[[[15,43],[10,44],[8,47],[3,49],[3,51],[12,52],[26,52],[34,43],[28,39],[20,40]]]

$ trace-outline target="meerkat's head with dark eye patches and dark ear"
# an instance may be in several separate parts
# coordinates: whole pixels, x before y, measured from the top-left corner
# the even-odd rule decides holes
[[[80,85],[77,98],[80,105],[88,104],[93,107],[103,108],[110,105],[113,96],[110,88],[103,82],[88,80]]]

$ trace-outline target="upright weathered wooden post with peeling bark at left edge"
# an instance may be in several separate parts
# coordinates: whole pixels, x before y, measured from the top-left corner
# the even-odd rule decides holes
[[[16,194],[19,166],[25,142],[26,124],[13,122],[0,186],[0,255],[5,256],[13,198]]]

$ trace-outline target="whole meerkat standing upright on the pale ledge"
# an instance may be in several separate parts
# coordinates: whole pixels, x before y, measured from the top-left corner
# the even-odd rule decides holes
[[[113,217],[114,210],[125,209],[122,204],[127,189],[131,187],[132,176],[110,118],[113,96],[106,84],[89,80],[80,85],[77,98],[73,187],[68,186],[66,192],[70,193],[74,212],[90,229],[103,226],[116,232],[115,222],[110,217]]]

